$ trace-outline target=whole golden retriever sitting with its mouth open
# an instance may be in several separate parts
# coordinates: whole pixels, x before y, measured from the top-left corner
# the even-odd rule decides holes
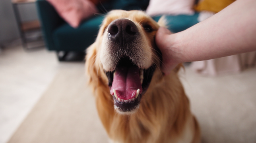
[[[112,143],[198,143],[200,128],[178,78],[160,70],[155,22],[143,11],[110,11],[87,49],[86,72]]]

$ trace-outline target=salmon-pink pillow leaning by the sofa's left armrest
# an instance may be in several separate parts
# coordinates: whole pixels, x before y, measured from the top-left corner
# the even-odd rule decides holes
[[[98,10],[89,0],[47,0],[70,26],[77,28],[83,19]]]

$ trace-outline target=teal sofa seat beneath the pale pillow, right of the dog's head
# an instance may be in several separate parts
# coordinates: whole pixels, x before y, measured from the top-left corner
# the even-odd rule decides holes
[[[167,26],[171,32],[176,33],[187,28],[193,26],[194,24],[198,23],[198,15],[199,13],[195,13],[194,15],[166,15]],[[153,17],[155,21],[158,21],[161,16]]]

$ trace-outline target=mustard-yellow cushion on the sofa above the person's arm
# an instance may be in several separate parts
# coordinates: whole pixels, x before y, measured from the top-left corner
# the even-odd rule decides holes
[[[226,8],[229,4],[235,2],[235,0],[203,0],[196,7],[196,11],[213,11],[219,12],[223,8]]]

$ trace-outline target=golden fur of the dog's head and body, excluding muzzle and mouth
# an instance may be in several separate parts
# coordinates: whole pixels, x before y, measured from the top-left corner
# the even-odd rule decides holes
[[[104,32],[115,19],[126,18],[133,21],[151,49],[151,64],[157,68],[149,88],[143,95],[140,107],[132,114],[120,114],[115,111],[112,95],[109,92],[108,78],[100,58]],[[143,23],[150,24],[153,32],[143,31]],[[200,129],[190,112],[188,98],[178,78],[178,65],[167,76],[159,69],[160,60],[155,47],[154,36],[158,24],[142,11],[111,11],[103,21],[95,43],[87,49],[86,72],[89,84],[93,87],[99,117],[107,134],[114,143],[198,143]],[[146,48],[148,46],[145,46]]]

